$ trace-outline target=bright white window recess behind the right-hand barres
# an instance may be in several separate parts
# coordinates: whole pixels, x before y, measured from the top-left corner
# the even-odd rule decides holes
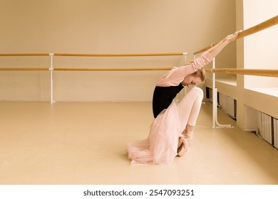
[[[278,1],[244,1],[244,29],[277,16]],[[244,68],[278,68],[278,26],[256,33],[244,39]],[[276,77],[245,76],[244,87],[278,87]]]

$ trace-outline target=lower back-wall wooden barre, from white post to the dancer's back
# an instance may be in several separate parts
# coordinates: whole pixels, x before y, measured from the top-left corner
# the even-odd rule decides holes
[[[53,68],[66,71],[128,71],[128,70],[171,70],[171,68]]]

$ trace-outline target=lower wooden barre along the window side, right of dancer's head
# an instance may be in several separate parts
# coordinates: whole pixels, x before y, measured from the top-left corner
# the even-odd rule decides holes
[[[214,68],[206,69],[206,72],[224,72],[236,75],[255,75],[265,77],[278,77],[278,70],[265,69],[243,69],[243,68]]]

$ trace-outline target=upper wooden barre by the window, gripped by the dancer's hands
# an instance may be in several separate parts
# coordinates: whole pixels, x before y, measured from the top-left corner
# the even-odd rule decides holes
[[[253,33],[257,33],[259,31],[262,31],[266,28],[269,28],[269,27],[272,27],[272,26],[275,26],[278,24],[278,15],[277,16],[274,16],[273,18],[269,18],[269,20],[267,21],[264,21],[262,23],[259,23],[257,26],[253,26],[251,28],[248,28],[244,31],[242,31],[236,38],[239,39],[239,38],[244,38],[245,36],[249,36],[249,35],[252,35]],[[219,42],[217,42],[219,43]],[[195,51],[193,54],[196,55],[196,54],[199,54],[199,53],[202,53],[202,52],[205,52],[206,50],[212,48],[212,46],[216,45],[217,43],[212,43],[211,45],[205,47],[205,48],[202,48],[201,50],[197,50]]]

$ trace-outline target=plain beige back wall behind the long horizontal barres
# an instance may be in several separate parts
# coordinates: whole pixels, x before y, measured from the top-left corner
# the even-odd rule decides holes
[[[0,0],[0,53],[192,53],[235,31],[228,0]],[[235,45],[217,58],[235,68]],[[171,58],[55,58],[55,67],[173,67]],[[50,58],[0,57],[0,67],[50,67]],[[55,72],[56,101],[150,101],[162,71]],[[0,100],[50,99],[49,72],[0,72]]]

